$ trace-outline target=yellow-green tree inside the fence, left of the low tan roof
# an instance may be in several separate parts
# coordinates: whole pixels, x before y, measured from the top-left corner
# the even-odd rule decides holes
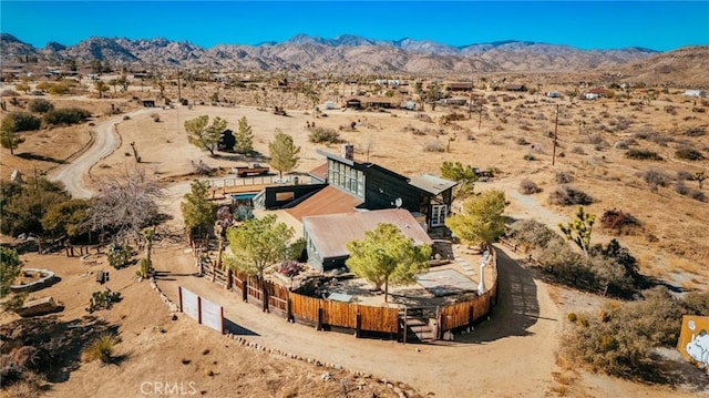
[[[256,276],[264,287],[266,268],[286,259],[288,242],[295,232],[292,227],[278,222],[275,214],[263,218],[251,218],[238,227],[226,232],[232,254],[224,255],[224,263],[248,275]],[[268,292],[264,290],[264,312],[268,310]]]

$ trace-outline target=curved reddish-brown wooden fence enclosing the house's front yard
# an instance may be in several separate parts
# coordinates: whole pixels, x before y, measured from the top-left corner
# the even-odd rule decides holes
[[[195,252],[198,255],[199,251]],[[317,329],[339,327],[361,331],[395,335],[400,330],[400,312],[398,308],[372,307],[352,303],[326,300],[290,292],[287,287],[269,280],[260,282],[254,276],[237,271],[224,271],[215,266],[212,261],[199,257],[202,269],[213,282],[234,290],[244,302],[264,305],[265,296],[268,303],[265,308],[275,312],[288,320],[315,325]],[[489,315],[497,298],[497,257],[492,249],[492,287],[469,302],[455,303],[438,308],[440,335],[443,331],[471,326]],[[264,294],[266,290],[266,295]]]

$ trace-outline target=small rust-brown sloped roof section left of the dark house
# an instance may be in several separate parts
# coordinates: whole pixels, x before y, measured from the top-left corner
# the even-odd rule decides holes
[[[288,208],[287,212],[300,221],[302,217],[311,215],[353,213],[357,212],[354,207],[363,202],[360,197],[328,185],[302,203]]]

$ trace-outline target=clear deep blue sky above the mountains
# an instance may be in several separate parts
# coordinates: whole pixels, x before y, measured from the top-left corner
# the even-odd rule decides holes
[[[528,40],[659,51],[709,44],[709,1],[8,1],[0,31],[41,48],[91,35],[202,47],[306,33],[464,45]]]

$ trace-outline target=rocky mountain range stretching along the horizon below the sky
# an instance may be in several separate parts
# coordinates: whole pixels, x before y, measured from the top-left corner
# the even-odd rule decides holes
[[[113,65],[335,74],[603,71],[662,55],[643,48],[582,50],[515,40],[454,47],[430,40],[374,40],[350,34],[333,39],[298,34],[284,42],[212,48],[163,38],[91,37],[75,45],[50,42],[37,49],[12,34],[0,33],[0,53],[9,60],[4,63],[24,58],[48,63],[97,59]]]

